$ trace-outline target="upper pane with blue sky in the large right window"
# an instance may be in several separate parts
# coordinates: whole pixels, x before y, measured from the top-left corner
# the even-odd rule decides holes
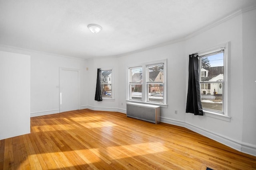
[[[201,81],[223,81],[224,52],[201,58]]]

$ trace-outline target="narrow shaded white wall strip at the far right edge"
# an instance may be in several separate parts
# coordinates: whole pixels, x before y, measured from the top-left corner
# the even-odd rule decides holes
[[[256,10],[243,14],[243,129],[242,141],[256,145]],[[248,152],[247,148],[243,149]],[[254,150],[256,155],[256,150]]]

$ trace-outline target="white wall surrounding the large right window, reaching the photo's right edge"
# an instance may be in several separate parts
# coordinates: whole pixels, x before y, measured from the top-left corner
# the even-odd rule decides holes
[[[255,17],[255,10],[240,14],[186,41],[187,56],[230,41],[230,76],[228,77],[230,98],[227,102],[232,117],[228,122],[186,114],[186,124],[196,127],[197,131],[210,138],[254,155],[256,155]]]

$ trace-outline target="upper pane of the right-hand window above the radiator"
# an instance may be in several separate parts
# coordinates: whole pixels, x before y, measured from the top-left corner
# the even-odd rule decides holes
[[[156,64],[147,67],[148,82],[164,82],[164,64]]]

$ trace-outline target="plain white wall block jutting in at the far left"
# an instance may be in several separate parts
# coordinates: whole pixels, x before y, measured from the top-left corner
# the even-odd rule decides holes
[[[30,133],[30,56],[0,51],[0,140]]]

